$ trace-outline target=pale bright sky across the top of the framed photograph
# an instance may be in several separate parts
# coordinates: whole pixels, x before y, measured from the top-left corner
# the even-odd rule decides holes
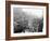
[[[43,10],[42,9],[34,9],[34,8],[14,8],[14,15],[17,15],[17,13],[24,12],[26,15],[29,16],[36,16],[36,17],[42,17]]]

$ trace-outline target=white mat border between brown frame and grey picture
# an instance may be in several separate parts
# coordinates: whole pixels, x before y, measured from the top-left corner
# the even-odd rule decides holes
[[[42,32],[29,32],[29,33],[13,33],[13,8],[34,8],[34,9],[42,9],[43,10],[43,31]],[[39,5],[17,5],[11,4],[11,37],[24,37],[24,36],[41,36],[46,35],[46,6]]]

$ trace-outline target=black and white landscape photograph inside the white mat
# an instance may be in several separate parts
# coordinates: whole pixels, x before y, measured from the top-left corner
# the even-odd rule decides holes
[[[37,11],[37,12],[36,12]],[[14,33],[17,32],[42,32],[42,10],[33,8],[13,8]]]

